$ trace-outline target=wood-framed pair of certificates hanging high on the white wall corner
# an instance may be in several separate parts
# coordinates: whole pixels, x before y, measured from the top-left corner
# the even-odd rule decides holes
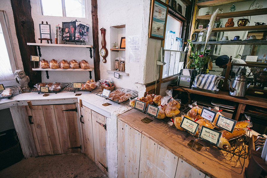
[[[167,15],[168,5],[160,0],[151,1],[149,38],[165,38]]]

